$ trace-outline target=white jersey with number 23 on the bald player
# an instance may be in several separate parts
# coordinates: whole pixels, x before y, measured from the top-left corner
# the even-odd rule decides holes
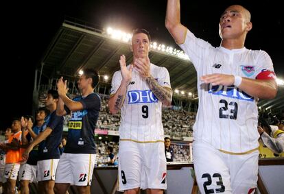
[[[222,73],[255,79],[263,71],[274,71],[268,53],[245,47],[233,50],[215,48],[196,38],[189,30],[180,47],[193,62],[198,76],[199,108],[193,138],[210,143],[216,149],[235,153],[257,148],[257,99],[235,86],[204,84],[200,77]]]

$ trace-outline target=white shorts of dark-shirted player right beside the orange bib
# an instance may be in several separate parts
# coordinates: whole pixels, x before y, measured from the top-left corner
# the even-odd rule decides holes
[[[29,165],[27,163],[21,165],[19,170],[19,180],[29,180],[29,182],[37,182],[36,165]]]

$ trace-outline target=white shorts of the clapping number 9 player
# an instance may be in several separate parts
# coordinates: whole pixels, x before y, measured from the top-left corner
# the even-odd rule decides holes
[[[167,189],[165,145],[119,141],[119,191]]]

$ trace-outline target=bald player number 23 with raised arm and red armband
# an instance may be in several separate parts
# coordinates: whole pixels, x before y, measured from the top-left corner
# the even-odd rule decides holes
[[[270,56],[244,47],[250,12],[241,5],[224,11],[217,48],[180,23],[178,0],[167,1],[166,27],[198,75],[193,160],[200,191],[252,193],[259,156],[257,100],[275,97],[277,84]]]

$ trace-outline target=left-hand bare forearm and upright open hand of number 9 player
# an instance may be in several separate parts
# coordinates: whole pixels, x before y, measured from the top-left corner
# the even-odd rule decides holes
[[[110,109],[111,114],[116,114],[120,110],[126,97],[128,84],[132,77],[133,65],[131,64],[129,69],[126,68],[125,56],[120,57],[119,65],[121,69],[122,80],[119,88],[117,89],[117,92],[115,93],[115,95],[110,97],[110,100],[108,101],[108,108]]]

